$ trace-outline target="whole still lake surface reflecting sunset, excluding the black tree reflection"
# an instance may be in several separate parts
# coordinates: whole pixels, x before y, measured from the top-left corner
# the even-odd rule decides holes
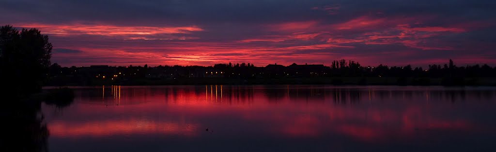
[[[42,105],[50,152],[495,152],[496,88],[104,86]],[[208,130],[207,130],[208,128]]]

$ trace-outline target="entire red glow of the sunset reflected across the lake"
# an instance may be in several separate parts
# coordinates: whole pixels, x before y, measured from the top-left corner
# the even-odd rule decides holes
[[[149,89],[134,90],[134,93],[126,90],[121,92],[119,106],[115,105],[119,97],[112,95],[97,100],[77,98],[70,110],[64,112],[66,118],[62,116],[53,121],[48,120],[48,127],[52,135],[62,137],[155,133],[195,136],[195,131],[207,127],[203,121],[199,121],[209,119],[248,125],[270,124],[266,125],[270,128],[251,129],[288,137],[339,134],[367,142],[414,138],[419,130],[426,129],[463,132],[477,131],[477,127],[481,127],[476,127],[464,117],[446,117],[456,113],[449,106],[395,99],[369,103],[368,92],[360,94],[363,96],[361,99],[367,102],[341,105],[330,102],[336,99],[332,97],[333,92],[317,98],[304,93],[300,93],[300,97],[288,96],[285,91],[281,91],[280,96],[268,97],[264,89],[224,92],[226,88],[223,87],[223,92],[220,92],[218,86],[216,96],[215,86],[213,90],[210,86],[206,88],[208,90],[203,88],[196,92],[181,88],[153,92]],[[74,115],[85,118],[85,121],[78,123],[78,120],[68,119]],[[154,115],[160,116],[154,119]],[[229,117],[235,117],[239,122],[227,122]],[[118,118],[122,121],[116,120]]]

